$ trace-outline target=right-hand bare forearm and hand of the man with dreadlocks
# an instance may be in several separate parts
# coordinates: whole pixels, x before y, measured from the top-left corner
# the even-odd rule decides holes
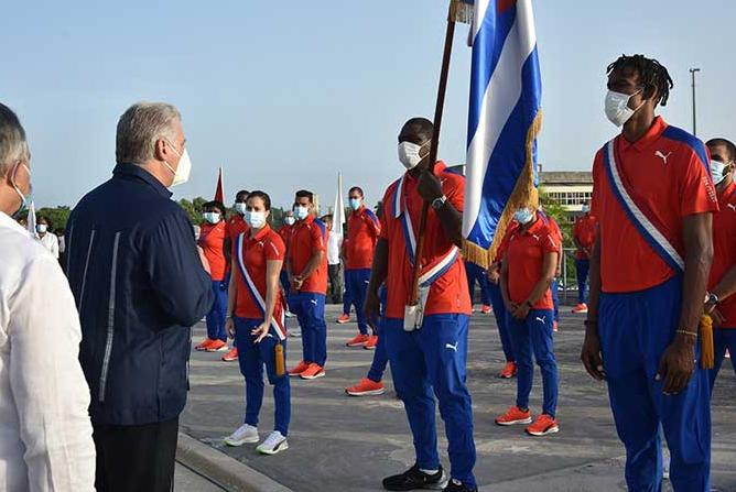
[[[685,273],[682,282],[679,332],[664,351],[658,372],[658,378],[664,380],[662,387],[664,394],[681,392],[695,369],[697,328],[713,262],[713,216],[710,212],[685,216],[682,226]]]

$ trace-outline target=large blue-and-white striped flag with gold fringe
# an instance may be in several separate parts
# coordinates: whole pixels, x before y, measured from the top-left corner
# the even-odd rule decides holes
[[[486,266],[519,206],[535,204],[542,84],[532,0],[467,0],[475,11],[464,255]]]

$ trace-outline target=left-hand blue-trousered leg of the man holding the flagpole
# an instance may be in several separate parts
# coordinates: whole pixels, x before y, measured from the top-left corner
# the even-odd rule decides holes
[[[434,395],[418,338],[403,330],[403,319],[388,319],[382,335],[391,361],[393,386],[401,395],[414,438],[416,464],[424,470],[436,470],[440,456]]]

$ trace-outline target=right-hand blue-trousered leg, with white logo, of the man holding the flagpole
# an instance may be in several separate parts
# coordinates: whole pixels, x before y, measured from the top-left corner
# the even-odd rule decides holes
[[[445,423],[451,477],[476,486],[473,405],[465,385],[469,321],[466,315],[427,316],[416,337]]]

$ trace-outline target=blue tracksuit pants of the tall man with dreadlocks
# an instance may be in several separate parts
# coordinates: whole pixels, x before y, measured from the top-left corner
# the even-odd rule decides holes
[[[708,372],[696,369],[677,395],[656,379],[661,357],[680,321],[682,277],[646,291],[600,295],[598,331],[610,407],[626,447],[630,491],[662,485],[661,424],[670,449],[670,481],[677,491],[708,492],[711,403]]]

